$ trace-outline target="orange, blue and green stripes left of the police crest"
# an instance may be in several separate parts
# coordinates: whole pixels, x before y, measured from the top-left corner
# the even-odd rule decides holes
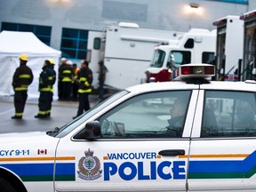
[[[58,163],[54,164],[54,160]],[[23,181],[53,181],[54,177],[57,181],[72,181],[76,180],[76,165],[73,162],[67,163],[70,160],[74,161],[75,156],[0,158],[0,167],[19,175]],[[10,161],[11,164],[6,164]],[[52,161],[52,163],[45,163],[45,161]]]

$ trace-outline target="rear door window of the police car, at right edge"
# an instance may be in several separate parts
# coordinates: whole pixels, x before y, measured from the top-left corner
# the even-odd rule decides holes
[[[205,92],[201,137],[256,136],[253,92]]]

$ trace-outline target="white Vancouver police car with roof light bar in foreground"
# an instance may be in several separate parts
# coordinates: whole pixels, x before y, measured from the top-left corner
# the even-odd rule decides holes
[[[182,65],[61,128],[2,134],[0,192],[256,191],[256,84],[214,71]]]

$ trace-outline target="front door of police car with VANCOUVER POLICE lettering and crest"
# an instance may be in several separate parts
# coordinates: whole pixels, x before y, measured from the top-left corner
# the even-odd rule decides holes
[[[75,156],[73,180],[57,180],[58,191],[185,191],[188,148],[198,91],[145,92],[116,101],[97,114],[101,137],[77,133],[60,140],[57,156]],[[184,116],[174,121],[175,102]],[[177,112],[178,113],[178,112]],[[169,123],[168,123],[169,122]],[[65,172],[65,171],[63,171]]]

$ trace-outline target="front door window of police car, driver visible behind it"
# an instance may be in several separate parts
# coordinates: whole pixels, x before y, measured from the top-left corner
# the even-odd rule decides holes
[[[191,91],[150,92],[100,116],[104,139],[180,138]]]

